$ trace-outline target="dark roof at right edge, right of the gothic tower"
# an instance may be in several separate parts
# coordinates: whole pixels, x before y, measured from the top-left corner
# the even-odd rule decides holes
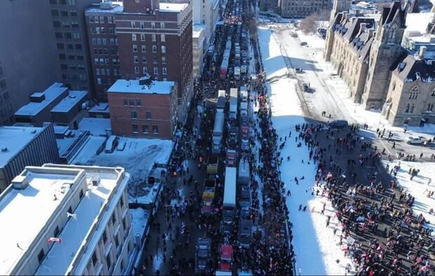
[[[424,83],[435,82],[435,60],[415,60],[412,55],[407,55],[397,64],[393,74],[406,82],[417,79]]]

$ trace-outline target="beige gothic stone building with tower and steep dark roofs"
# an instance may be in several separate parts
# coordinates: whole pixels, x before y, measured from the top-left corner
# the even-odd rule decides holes
[[[407,8],[403,8],[400,1],[394,1],[382,8],[380,20],[377,21],[367,17],[351,18],[347,12],[349,2],[335,0],[330,29],[326,35],[324,57],[326,61],[334,65],[337,74],[347,83],[354,102],[363,104],[366,109],[386,109],[389,106],[389,111],[384,110],[383,114],[393,125],[403,123],[419,125],[420,121],[434,123],[431,116],[428,116],[427,104],[429,103],[426,101],[422,101],[426,105],[426,110],[423,108],[423,103],[418,103],[417,108],[417,102],[414,102],[410,103],[410,108],[406,111],[407,103],[401,101],[401,97],[405,97],[401,96],[401,93],[408,89],[409,85],[406,80],[410,78],[397,78],[396,90],[394,90],[396,92],[389,93],[392,79],[396,78],[394,71],[398,70],[399,66],[403,67],[401,61],[405,58],[414,58],[408,57],[406,50],[401,46],[406,29]],[[424,71],[429,65],[415,65],[431,64],[431,61],[417,58],[413,65],[409,61],[406,64],[408,68],[414,68],[413,72],[417,73],[417,76],[420,74],[424,76],[427,83],[431,83],[431,78],[425,77],[427,74]],[[420,80],[420,82],[424,81]],[[424,91],[424,95],[420,95],[421,98],[426,98],[427,93],[431,94],[429,86],[419,88],[420,92]],[[399,87],[402,89],[400,93],[398,92]],[[387,97],[387,94],[391,99]],[[394,104],[391,107],[393,102],[396,104],[401,102],[401,104],[393,109]],[[414,109],[411,109],[412,104],[415,106]],[[410,113],[410,110],[413,111],[413,116],[403,115]],[[420,119],[417,118],[418,116]]]

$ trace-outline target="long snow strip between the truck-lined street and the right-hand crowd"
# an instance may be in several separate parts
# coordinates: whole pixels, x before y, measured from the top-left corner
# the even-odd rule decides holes
[[[271,31],[265,28],[258,29],[260,49],[267,78],[276,76],[276,72],[286,70],[286,64],[279,51],[279,45],[272,39]],[[282,76],[282,74],[281,74]],[[333,214],[333,207],[326,198],[311,195],[310,187],[314,186],[316,166],[308,162],[309,150],[304,144],[297,148],[295,139],[295,125],[305,123],[302,109],[297,98],[296,81],[290,78],[278,78],[268,83],[267,88],[271,95],[272,122],[279,137],[288,136],[286,146],[281,151],[283,163],[281,165],[281,179],[286,183],[286,190],[292,195],[287,198],[286,204],[290,212],[290,221],[293,223],[293,246],[296,254],[296,270],[302,275],[344,275],[347,263],[352,263],[340,246],[341,230],[334,235],[333,229],[338,221]],[[287,161],[290,156],[290,161]],[[302,163],[304,160],[304,163]],[[294,177],[300,180],[296,185]],[[325,215],[319,214],[326,202]],[[307,212],[298,211],[299,205],[307,206]],[[311,212],[314,209],[314,212]],[[331,216],[329,228],[326,226],[326,216]],[[340,260],[337,263],[336,260]]]

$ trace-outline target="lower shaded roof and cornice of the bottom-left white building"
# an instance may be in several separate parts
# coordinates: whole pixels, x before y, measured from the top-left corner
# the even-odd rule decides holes
[[[74,166],[74,165],[44,165],[44,169],[56,167],[57,170],[79,170],[85,174],[88,191],[74,210],[76,219],[69,219],[59,237],[62,244],[55,243],[46,258],[39,265],[35,275],[66,275],[71,270],[70,265],[76,262],[74,275],[82,275],[88,264],[93,248],[98,244],[105,227],[97,227],[93,235],[89,235],[96,223],[106,225],[128,183],[129,175],[123,177],[122,168]],[[100,184],[93,186],[92,179],[100,178]],[[51,195],[53,197],[53,195]],[[67,214],[65,214],[66,216]],[[83,251],[86,242],[88,249]],[[64,254],[68,252],[68,254]],[[72,252],[73,254],[69,254]],[[76,260],[81,255],[79,260]],[[60,261],[60,259],[66,261]]]

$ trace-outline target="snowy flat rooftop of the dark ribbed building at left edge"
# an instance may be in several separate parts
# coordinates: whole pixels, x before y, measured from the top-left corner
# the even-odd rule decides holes
[[[44,127],[0,127],[0,167],[6,166]],[[4,150],[6,149],[6,150]],[[1,275],[1,273],[0,273]]]

